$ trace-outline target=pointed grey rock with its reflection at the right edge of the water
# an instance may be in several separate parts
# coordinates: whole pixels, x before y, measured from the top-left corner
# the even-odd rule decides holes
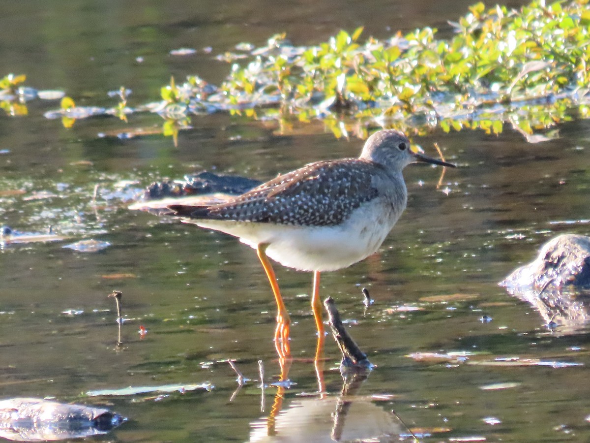
[[[500,286],[535,307],[550,327],[584,326],[590,320],[590,237],[554,237]]]

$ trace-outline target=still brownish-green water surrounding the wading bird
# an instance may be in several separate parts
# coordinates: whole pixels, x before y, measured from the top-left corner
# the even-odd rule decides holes
[[[464,14],[468,2],[420,12],[426,4],[13,2],[0,17],[1,74],[27,74],[30,86],[60,88],[89,105],[102,105],[123,84],[142,103],[157,99],[171,74],[221,82],[228,66],[204,47],[222,53],[280,31],[298,44],[316,43],[358,25],[376,37],[424,25],[448,32],[445,21]],[[169,56],[179,47],[197,54]],[[379,253],[322,276],[322,296],[336,299],[376,365],[355,386],[342,420],[340,353],[330,337],[326,395],[315,395],[310,274],[276,268],[293,321],[289,379],[296,385],[263,391],[258,361],[267,385],[280,369],[274,301],[254,251],[127,206],[152,181],[203,169],[267,180],[317,159],[356,156],[362,141],[304,126],[283,135],[217,114],[194,117],[175,148],[158,135],[99,138],[126,128],[115,119],[64,129],[42,117],[55,107],[35,102],[26,117],[0,115],[0,224],[37,233],[51,226],[63,237],[0,250],[3,398],[53,397],[129,418],[97,441],[315,442],[335,439],[335,428],[341,441],[410,441],[408,428],[437,442],[590,440],[588,329],[550,330],[497,285],[555,234],[588,234],[587,120],[564,123],[559,139],[534,145],[508,128],[499,137],[414,139],[432,156],[437,142],[457,170],[437,189],[440,168],[406,168],[408,209]],[[158,119],[134,116],[130,125],[161,125]],[[110,246],[63,247],[83,239]],[[362,287],[375,299],[369,308]],[[107,298],[115,289],[123,292],[122,346]],[[251,379],[237,393],[228,359]],[[87,395],[165,385],[203,387]]]

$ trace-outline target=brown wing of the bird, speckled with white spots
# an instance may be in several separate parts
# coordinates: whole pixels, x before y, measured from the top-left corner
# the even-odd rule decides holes
[[[332,226],[378,196],[372,185],[376,169],[385,173],[362,159],[320,161],[279,175],[227,203],[190,212],[171,209],[194,219]]]

